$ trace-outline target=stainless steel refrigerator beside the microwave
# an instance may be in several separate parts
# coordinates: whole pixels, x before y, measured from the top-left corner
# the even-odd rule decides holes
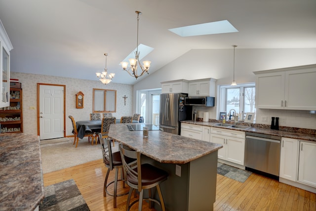
[[[187,94],[170,93],[160,95],[159,129],[180,135],[180,121],[192,118],[192,106],[184,105]]]

